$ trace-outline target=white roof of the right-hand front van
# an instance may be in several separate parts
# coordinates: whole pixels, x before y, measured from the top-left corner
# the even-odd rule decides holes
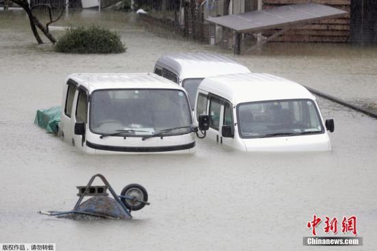
[[[304,86],[266,73],[243,73],[208,77],[198,89],[228,99],[233,105],[254,101],[309,98],[315,100]]]

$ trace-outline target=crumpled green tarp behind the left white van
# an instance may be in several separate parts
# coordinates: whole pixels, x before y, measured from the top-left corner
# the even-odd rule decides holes
[[[39,109],[36,111],[34,124],[46,129],[50,133],[58,132],[58,124],[61,118],[62,107],[55,106],[50,109]]]

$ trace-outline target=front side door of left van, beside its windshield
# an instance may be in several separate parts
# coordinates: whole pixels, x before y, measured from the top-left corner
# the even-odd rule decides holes
[[[85,135],[88,130],[88,92],[84,88],[79,88],[77,90],[77,95],[75,98],[75,114],[74,114],[74,123],[72,128],[74,144],[80,150],[85,150]],[[84,135],[75,135],[75,123],[84,122],[85,133]]]

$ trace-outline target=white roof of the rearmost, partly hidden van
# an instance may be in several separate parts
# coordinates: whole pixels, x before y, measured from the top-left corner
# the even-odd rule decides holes
[[[250,70],[228,57],[206,53],[162,55],[157,63],[174,72],[180,79],[204,78],[228,73],[245,73]]]

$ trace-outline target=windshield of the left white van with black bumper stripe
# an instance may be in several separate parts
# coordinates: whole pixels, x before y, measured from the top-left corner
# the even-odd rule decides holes
[[[187,96],[180,90],[97,90],[90,96],[90,131],[142,137],[193,122]],[[164,135],[191,132],[175,129]]]

